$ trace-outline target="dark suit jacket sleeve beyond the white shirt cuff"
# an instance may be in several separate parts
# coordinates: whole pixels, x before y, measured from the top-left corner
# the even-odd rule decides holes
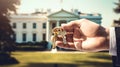
[[[116,67],[120,67],[120,27],[115,27],[115,34],[116,34],[117,56],[114,63],[116,64]]]

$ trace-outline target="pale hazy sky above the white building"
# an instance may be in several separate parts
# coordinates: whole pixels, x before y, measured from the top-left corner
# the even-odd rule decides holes
[[[62,1],[62,3],[61,3]],[[120,14],[113,12],[118,0],[21,0],[18,13],[32,13],[35,9],[51,9],[58,11],[61,8],[70,11],[78,9],[82,13],[102,14],[102,26],[110,27],[114,19],[119,19]]]

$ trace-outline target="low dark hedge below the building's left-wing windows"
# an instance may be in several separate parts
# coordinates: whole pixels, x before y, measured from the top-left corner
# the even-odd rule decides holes
[[[16,43],[19,51],[43,51],[47,50],[47,41]]]

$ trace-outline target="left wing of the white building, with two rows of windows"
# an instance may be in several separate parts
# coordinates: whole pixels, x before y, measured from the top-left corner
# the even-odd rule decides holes
[[[46,40],[46,16],[32,14],[11,15],[11,26],[15,40],[22,42],[40,42]]]

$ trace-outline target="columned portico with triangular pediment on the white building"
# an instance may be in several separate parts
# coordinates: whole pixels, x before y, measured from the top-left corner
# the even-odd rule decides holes
[[[79,16],[61,9],[58,12],[48,15],[47,29],[46,29],[46,40],[50,41],[52,36],[52,29],[59,27],[61,24],[68,23],[72,20],[78,20]]]

